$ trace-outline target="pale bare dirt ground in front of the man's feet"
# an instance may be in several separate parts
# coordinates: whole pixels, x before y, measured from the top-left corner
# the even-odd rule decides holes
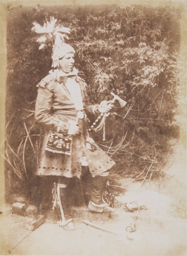
[[[183,156],[180,156],[183,157]],[[36,230],[26,229],[27,217],[12,213],[11,207],[0,209],[1,255],[124,255],[183,256],[186,249],[186,165],[169,164],[170,175],[145,184],[133,182],[117,200],[137,202],[141,209],[135,232],[125,228],[133,223],[135,212],[117,209],[114,215],[90,214],[75,209],[75,231],[67,232],[51,219]],[[180,174],[180,175],[178,175]],[[122,180],[122,185],[127,180]],[[90,220],[103,230],[82,221]]]

